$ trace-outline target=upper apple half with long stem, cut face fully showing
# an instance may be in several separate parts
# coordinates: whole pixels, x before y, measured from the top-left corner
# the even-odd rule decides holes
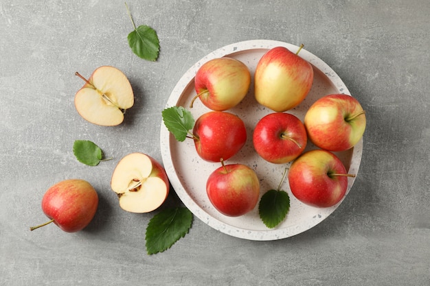
[[[124,112],[134,104],[131,84],[119,69],[103,66],[89,80],[76,72],[85,84],[75,95],[75,107],[85,120],[100,126],[117,126]]]

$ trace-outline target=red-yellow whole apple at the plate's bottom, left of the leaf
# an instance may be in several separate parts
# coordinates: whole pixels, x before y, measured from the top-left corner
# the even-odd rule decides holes
[[[238,217],[256,206],[260,182],[253,169],[242,164],[223,165],[210,174],[207,197],[223,215]]]

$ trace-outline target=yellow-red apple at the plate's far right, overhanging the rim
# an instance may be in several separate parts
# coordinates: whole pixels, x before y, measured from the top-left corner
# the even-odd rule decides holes
[[[357,99],[333,94],[310,106],[304,125],[310,141],[317,147],[339,152],[354,147],[363,137],[366,117]]]

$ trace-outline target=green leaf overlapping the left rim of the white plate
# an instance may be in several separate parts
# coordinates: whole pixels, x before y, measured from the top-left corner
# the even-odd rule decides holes
[[[184,141],[188,131],[194,127],[194,117],[182,106],[172,106],[161,112],[164,125],[172,132],[177,141]]]

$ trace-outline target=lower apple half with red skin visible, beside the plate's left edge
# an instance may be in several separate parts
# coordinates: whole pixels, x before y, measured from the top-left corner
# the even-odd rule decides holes
[[[115,167],[111,188],[120,206],[131,213],[149,213],[166,200],[170,184],[164,168],[152,157],[131,153]]]

